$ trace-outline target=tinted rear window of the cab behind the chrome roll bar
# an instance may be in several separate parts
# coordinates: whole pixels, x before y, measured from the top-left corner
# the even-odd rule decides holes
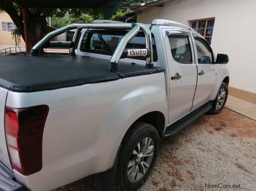
[[[121,38],[127,31],[107,31],[107,30],[88,30],[84,33],[80,51],[96,54],[112,55]],[[157,52],[154,36],[152,34],[153,45],[153,61],[157,61]],[[145,36],[143,32],[139,32],[132,38],[126,48],[145,48]],[[145,60],[143,57],[133,57],[137,60]]]

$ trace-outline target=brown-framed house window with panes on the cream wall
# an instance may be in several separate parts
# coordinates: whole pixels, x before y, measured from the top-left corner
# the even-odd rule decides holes
[[[205,40],[211,44],[212,31],[214,26],[214,18],[190,21],[190,27],[197,33],[201,34]]]

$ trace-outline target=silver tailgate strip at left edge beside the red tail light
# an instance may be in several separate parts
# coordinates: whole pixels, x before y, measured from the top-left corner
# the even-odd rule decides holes
[[[4,109],[8,90],[0,88],[0,161],[11,168],[4,131]],[[1,183],[0,183],[1,184]]]

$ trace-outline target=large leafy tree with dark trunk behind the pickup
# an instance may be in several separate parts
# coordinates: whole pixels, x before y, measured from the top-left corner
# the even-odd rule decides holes
[[[123,0],[122,5],[146,4],[152,1],[154,0]],[[13,35],[19,34],[25,40],[21,7],[11,0],[0,0],[0,11],[1,10],[6,11],[10,15],[19,30],[13,33]],[[128,13],[128,11],[129,9],[125,8],[118,9],[117,13],[111,19],[118,19]],[[52,26],[56,28],[65,26],[68,23],[93,22],[94,19],[103,18],[102,8],[29,8],[26,9],[25,12],[29,49],[45,35],[47,25],[46,18],[49,16],[52,17]]]

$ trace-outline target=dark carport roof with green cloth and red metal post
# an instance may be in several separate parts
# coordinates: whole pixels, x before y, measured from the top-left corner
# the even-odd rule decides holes
[[[29,54],[27,24],[26,24],[26,9],[27,8],[96,8],[102,7],[104,18],[110,18],[117,11],[122,0],[13,0],[16,4],[22,7],[24,36],[26,43],[26,55]]]

